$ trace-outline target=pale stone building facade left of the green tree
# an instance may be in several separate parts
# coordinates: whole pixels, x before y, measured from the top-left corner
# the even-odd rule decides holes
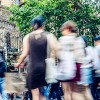
[[[0,49],[16,48],[20,51],[23,36],[19,33],[16,25],[9,21],[10,15],[11,13],[0,5]]]

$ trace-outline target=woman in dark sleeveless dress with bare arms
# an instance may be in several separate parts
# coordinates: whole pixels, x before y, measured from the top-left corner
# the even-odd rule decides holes
[[[46,86],[45,71],[47,58],[47,39],[51,48],[56,50],[57,40],[53,34],[47,34],[44,30],[45,20],[43,16],[35,17],[31,21],[31,26],[34,29],[30,34],[23,39],[23,53],[20,56],[16,67],[24,62],[24,59],[29,55],[30,66],[27,77],[27,87],[32,91],[33,100],[45,100],[41,94],[41,87]]]

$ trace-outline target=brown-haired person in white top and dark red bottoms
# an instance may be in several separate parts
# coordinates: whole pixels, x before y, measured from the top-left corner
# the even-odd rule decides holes
[[[59,39],[59,42],[63,54],[61,54],[59,58],[61,62],[63,61],[62,66],[66,65],[67,69],[65,70],[70,72],[68,75],[72,75],[70,70],[73,68],[73,63],[76,65],[76,67],[74,66],[75,68],[73,68],[73,70],[76,69],[75,76],[74,74],[72,76],[73,79],[62,81],[64,100],[72,100],[72,84],[80,80],[80,65],[83,63],[83,57],[85,56],[84,41],[82,38],[77,37],[78,28],[73,21],[65,22],[61,27],[61,32],[63,36]],[[66,56],[64,52],[68,52]],[[74,61],[71,61],[72,58]],[[68,64],[64,63],[65,59]]]

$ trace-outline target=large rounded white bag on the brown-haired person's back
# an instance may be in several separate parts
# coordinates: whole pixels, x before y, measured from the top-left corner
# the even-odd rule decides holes
[[[58,63],[57,80],[70,81],[76,75],[76,63],[70,52],[64,52],[60,54],[61,59]]]

